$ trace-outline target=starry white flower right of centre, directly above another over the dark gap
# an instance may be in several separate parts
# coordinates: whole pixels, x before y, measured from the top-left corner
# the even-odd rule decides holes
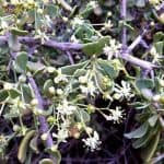
[[[134,96],[134,94],[132,94],[131,92],[130,83],[121,81],[121,85],[122,86],[116,84],[116,86],[114,87],[114,91],[116,92],[114,95],[115,98],[122,99],[125,97],[127,99],[130,99]]]

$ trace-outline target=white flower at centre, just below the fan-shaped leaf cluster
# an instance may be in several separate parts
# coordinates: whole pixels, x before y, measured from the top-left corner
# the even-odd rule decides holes
[[[90,81],[86,86],[80,85],[80,90],[82,93],[91,94],[92,96],[94,96],[94,93],[96,92],[96,87],[95,87],[93,81]]]

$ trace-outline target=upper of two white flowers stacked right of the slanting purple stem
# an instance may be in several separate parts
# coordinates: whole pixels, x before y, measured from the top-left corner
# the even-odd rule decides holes
[[[71,115],[77,110],[77,107],[73,105],[69,105],[67,99],[62,101],[62,104],[57,106],[57,110],[62,115]]]

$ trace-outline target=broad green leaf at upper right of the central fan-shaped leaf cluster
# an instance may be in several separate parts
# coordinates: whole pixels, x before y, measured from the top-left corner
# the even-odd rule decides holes
[[[110,79],[115,79],[118,75],[118,71],[115,70],[114,66],[107,60],[98,59],[98,66],[102,68],[101,71],[108,75]]]

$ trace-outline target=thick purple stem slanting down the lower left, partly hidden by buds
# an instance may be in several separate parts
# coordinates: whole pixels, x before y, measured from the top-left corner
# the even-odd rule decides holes
[[[38,107],[39,109],[43,109],[43,110],[44,110],[43,98],[42,98],[40,93],[39,93],[39,91],[38,91],[38,87],[37,87],[37,85],[36,85],[36,83],[35,83],[35,80],[34,80],[32,77],[28,77],[28,82],[30,82],[30,84],[31,84],[31,86],[32,86],[32,89],[33,89],[33,91],[34,91],[34,93],[35,93],[36,99],[38,101],[37,107]],[[45,116],[38,116],[38,120],[39,120],[39,122],[40,122],[40,132],[42,132],[42,133],[48,132],[48,125],[47,125],[47,121],[46,121]],[[48,133],[48,138],[47,138],[47,140],[46,140],[46,145],[47,145],[47,148],[51,148],[52,144],[54,144],[54,143],[52,143],[52,139],[51,139],[51,137],[50,137],[50,133]]]

